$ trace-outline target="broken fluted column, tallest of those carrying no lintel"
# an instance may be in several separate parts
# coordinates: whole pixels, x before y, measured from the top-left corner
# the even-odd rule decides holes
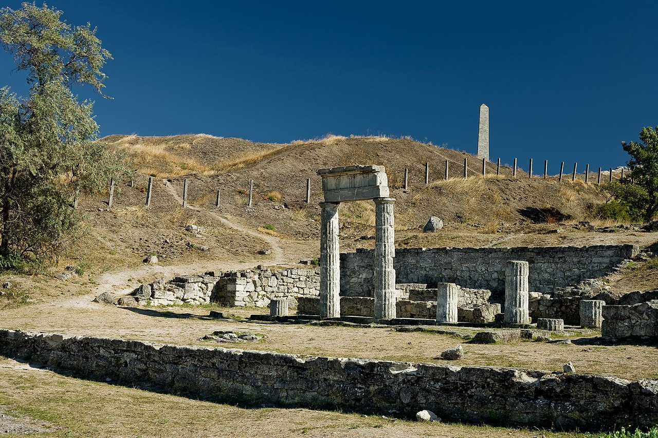
[[[528,262],[508,260],[505,266],[505,324],[528,324]]]

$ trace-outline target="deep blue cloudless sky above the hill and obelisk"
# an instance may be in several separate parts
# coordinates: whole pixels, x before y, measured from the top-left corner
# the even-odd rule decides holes
[[[38,4],[41,4],[38,2]],[[5,4],[13,9],[19,1]],[[101,135],[206,133],[286,143],[411,135],[534,172],[592,168],[658,125],[655,1],[76,1],[113,57]],[[24,73],[0,53],[0,85]],[[84,89],[76,92],[92,96]]]

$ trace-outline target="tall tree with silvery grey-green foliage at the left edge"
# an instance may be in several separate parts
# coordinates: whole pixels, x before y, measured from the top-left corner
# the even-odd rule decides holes
[[[93,103],[71,91],[89,84],[101,93],[101,67],[111,55],[95,29],[72,28],[61,13],[30,3],[0,9],[0,41],[30,85],[28,97],[0,88],[0,268],[7,260],[56,259],[81,235],[72,208],[80,191],[103,189],[128,172],[95,142]]]

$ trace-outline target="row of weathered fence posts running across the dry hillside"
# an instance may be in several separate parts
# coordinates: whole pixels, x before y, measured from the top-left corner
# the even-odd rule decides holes
[[[530,168],[528,169],[528,178],[532,178],[532,158],[530,158]],[[449,179],[449,161],[445,160],[445,180],[447,181]],[[562,182],[562,178],[564,175],[564,170],[565,170],[565,162],[560,163],[560,174],[558,177],[558,180]],[[574,170],[571,175],[571,180],[576,181],[576,170],[578,170],[578,163],[574,162]],[[500,158],[498,158],[496,162],[496,175],[500,175]],[[482,176],[486,176],[487,174],[487,160],[486,158],[482,158]],[[586,164],[585,165],[585,183],[589,182],[589,177],[590,177],[590,165]],[[464,158],[464,178],[468,178],[468,158]],[[514,158],[514,164],[512,167],[512,178],[517,178],[517,158]],[[548,160],[544,160],[544,180],[548,178]],[[624,169],[622,168],[621,170],[621,176],[620,178],[624,178]],[[610,173],[609,173],[609,182],[612,182],[613,180],[613,168],[610,168]],[[425,185],[429,185],[430,183],[430,162],[425,163]],[[597,183],[601,183],[601,168],[599,167],[599,175],[598,175],[598,180]],[[132,180],[130,181],[130,187],[133,186]],[[188,207],[188,178],[185,178],[183,180],[183,207]],[[408,190],[409,189],[409,168],[405,168],[405,173],[404,173],[404,189]],[[149,176],[149,184],[147,185],[146,189],[146,207],[151,207],[151,195],[153,193],[153,176]],[[217,197],[215,201],[216,207],[219,207],[220,203],[220,195],[221,195],[221,190],[217,189]],[[110,193],[109,193],[109,201],[107,203],[108,208],[112,208],[114,203],[114,178],[111,178],[110,180]],[[311,178],[306,179],[306,203],[310,204],[311,203]],[[253,180],[249,180],[249,201],[247,203],[248,207],[253,206]]]

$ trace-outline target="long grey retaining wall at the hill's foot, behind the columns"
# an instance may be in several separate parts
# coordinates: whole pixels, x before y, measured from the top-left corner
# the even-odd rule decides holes
[[[393,267],[397,283],[457,283],[471,289],[505,290],[505,262],[530,264],[530,291],[552,293],[586,278],[605,276],[638,254],[634,245],[518,248],[399,248]],[[372,297],[374,253],[341,254],[341,295]]]

